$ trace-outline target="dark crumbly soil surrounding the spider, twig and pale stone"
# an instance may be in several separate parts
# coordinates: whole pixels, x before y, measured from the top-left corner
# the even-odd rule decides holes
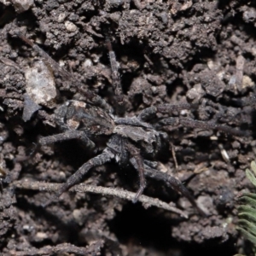
[[[255,157],[256,144],[255,26],[253,1],[35,0],[25,12],[1,1],[1,255],[229,256],[249,250],[236,231],[236,199],[252,188],[245,169]],[[96,155],[72,141],[42,147],[31,159],[17,161],[29,154],[38,137],[60,132],[47,118],[55,106],[84,96],[56,73],[55,102],[41,106],[25,122],[24,72],[40,57],[15,37],[16,32],[24,32],[114,107],[108,36],[119,61],[128,116],[163,102],[192,102],[198,104],[196,110],[175,116],[251,132],[235,137],[165,128],[178,166],[171,149],[158,160],[184,182],[208,217],[201,217],[186,198],[154,179],[148,179],[144,194],[177,203],[189,211],[188,219],[90,193],[67,192],[60,201],[42,207],[49,193],[15,189],[15,180],[63,183]],[[111,162],[91,170],[84,182],[136,191],[138,180],[131,166],[120,168]]]

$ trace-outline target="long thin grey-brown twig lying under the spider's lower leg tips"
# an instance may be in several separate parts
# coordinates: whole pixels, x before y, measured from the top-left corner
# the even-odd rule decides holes
[[[18,189],[32,189],[32,190],[47,191],[47,192],[57,192],[62,185],[61,183],[31,182],[28,180],[16,181],[13,184]],[[123,189],[104,188],[101,186],[91,186],[84,183],[73,186],[71,189],[69,189],[69,191],[80,192],[80,193],[90,192],[90,193],[96,193],[96,194],[102,194],[102,195],[113,195],[129,201],[132,201],[136,195],[135,193],[132,193]],[[175,212],[180,216],[182,216],[183,218],[188,218],[188,214],[186,212],[183,212],[182,210],[177,209],[177,207],[172,206],[172,203],[168,204],[164,201],[160,201],[159,199],[148,197],[146,195],[141,195],[138,198],[138,201],[141,201],[143,203],[143,207],[145,208],[153,207],[153,206],[159,207],[170,212]]]

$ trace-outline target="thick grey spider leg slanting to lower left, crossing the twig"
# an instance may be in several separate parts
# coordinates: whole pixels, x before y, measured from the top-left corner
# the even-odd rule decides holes
[[[73,185],[81,182],[84,175],[90,171],[91,168],[95,166],[102,166],[103,164],[107,163],[108,161],[114,158],[114,154],[108,148],[106,148],[102,154],[97,155],[96,157],[88,160],[83,166],[79,168],[79,170],[73,173],[72,176],[67,178],[67,182],[61,186],[59,191],[56,193],[56,197],[59,197],[63,192],[67,191]]]

